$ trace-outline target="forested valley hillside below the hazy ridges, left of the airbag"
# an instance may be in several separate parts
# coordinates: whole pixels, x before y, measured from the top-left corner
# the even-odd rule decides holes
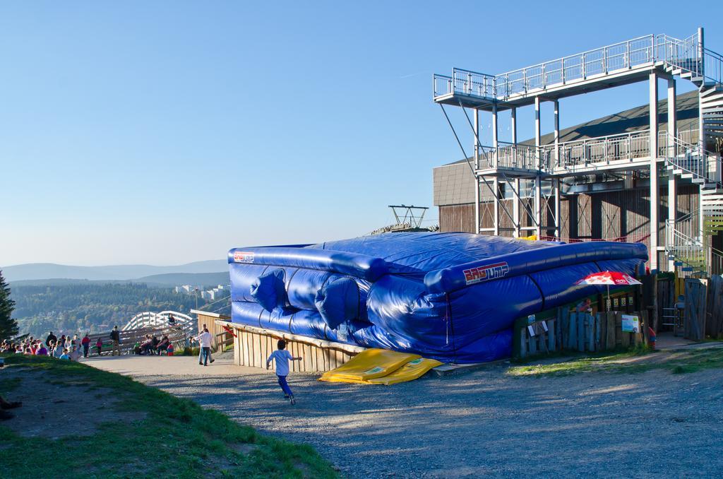
[[[16,303],[13,317],[18,320],[20,333],[33,336],[48,330],[61,334],[106,331],[116,324],[122,327],[143,311],[188,313],[196,306],[193,295],[146,284],[14,286],[11,297]],[[199,307],[206,303],[198,298]]]

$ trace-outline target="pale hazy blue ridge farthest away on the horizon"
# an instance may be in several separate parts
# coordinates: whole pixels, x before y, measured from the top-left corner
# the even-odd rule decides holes
[[[9,282],[38,279],[86,279],[90,281],[124,281],[166,274],[207,274],[226,271],[226,260],[206,260],[179,266],[116,265],[67,266],[54,263],[27,263],[0,268]],[[228,279],[227,279],[228,281]],[[144,281],[145,282],[145,281]]]

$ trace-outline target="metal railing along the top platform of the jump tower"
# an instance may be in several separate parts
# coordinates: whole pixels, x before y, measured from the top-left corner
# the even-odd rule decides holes
[[[683,40],[658,34],[613,43],[500,75],[455,68],[452,77],[434,75],[432,90],[434,98],[460,94],[492,101],[507,100],[511,96],[656,62],[665,62],[716,83],[721,83],[723,79],[723,56],[703,48],[697,33]]]

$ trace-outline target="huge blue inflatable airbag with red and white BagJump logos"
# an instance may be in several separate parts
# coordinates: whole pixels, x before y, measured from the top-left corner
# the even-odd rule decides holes
[[[232,321],[444,362],[509,357],[516,318],[602,289],[597,271],[644,271],[644,245],[389,233],[229,251]]]

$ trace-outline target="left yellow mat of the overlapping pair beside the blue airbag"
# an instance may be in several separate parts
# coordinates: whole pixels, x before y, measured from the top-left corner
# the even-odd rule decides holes
[[[419,355],[408,355],[388,349],[366,349],[348,360],[335,370],[322,374],[322,381],[351,380],[352,382],[369,381],[369,379],[388,376],[411,360],[419,359]],[[349,382],[349,381],[340,381]]]

